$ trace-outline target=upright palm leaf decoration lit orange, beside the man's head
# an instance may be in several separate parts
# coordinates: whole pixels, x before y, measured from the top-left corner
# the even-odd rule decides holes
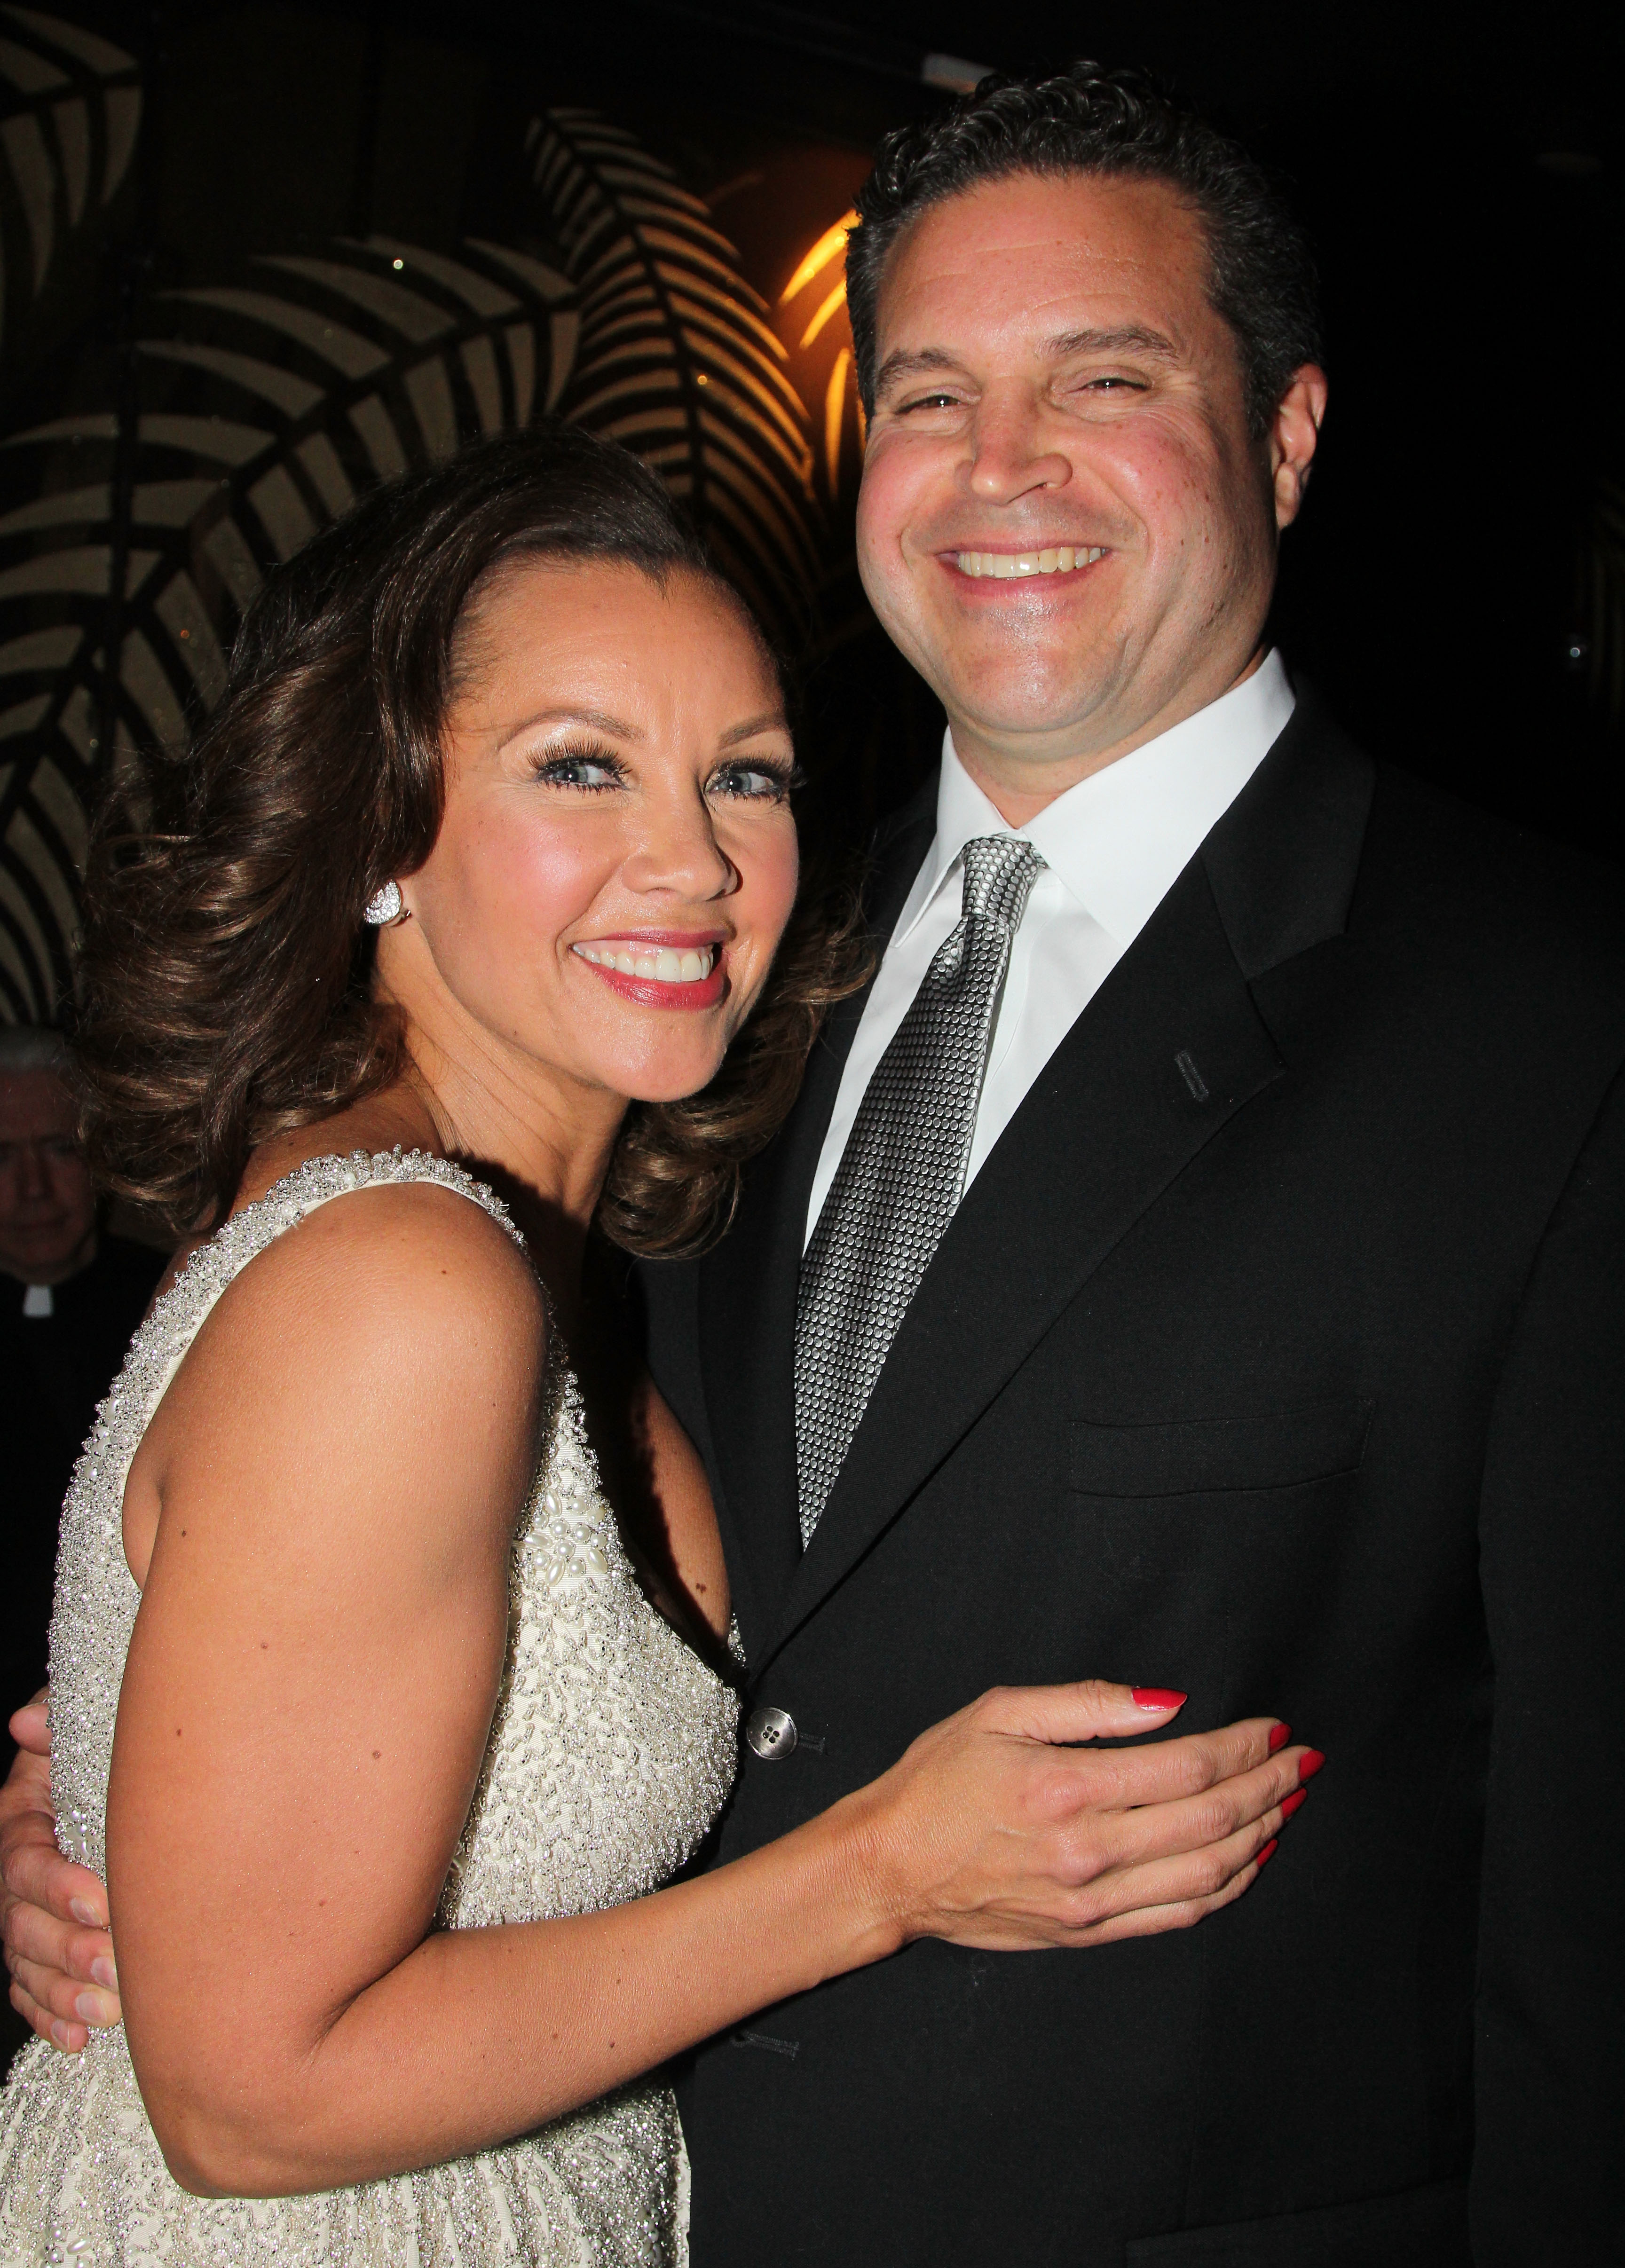
[[[710,213],[597,111],[531,127],[549,240],[581,293],[565,415],[635,449],[781,633],[824,567],[808,413]]]

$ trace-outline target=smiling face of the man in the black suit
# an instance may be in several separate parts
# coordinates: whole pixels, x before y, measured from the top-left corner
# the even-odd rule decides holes
[[[1014,175],[926,209],[876,365],[862,581],[974,773],[1046,801],[1246,674],[1323,381],[1248,438],[1167,184]]]

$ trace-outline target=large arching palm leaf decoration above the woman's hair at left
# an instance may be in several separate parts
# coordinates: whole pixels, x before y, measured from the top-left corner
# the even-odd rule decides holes
[[[554,411],[576,347],[567,279],[488,243],[447,259],[345,240],[150,313],[134,433],[98,413],[5,445],[7,485],[30,494],[0,513],[0,1014],[16,1021],[48,1021],[68,989],[104,773],[177,746],[218,699],[266,567],[377,481]]]

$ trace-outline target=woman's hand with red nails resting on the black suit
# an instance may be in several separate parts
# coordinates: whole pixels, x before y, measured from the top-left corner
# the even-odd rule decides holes
[[[1073,1746],[1146,1733],[1182,1706],[1098,1681],[999,1687],[921,1733],[849,1799],[867,1812],[862,1867],[896,1944],[1094,1946],[1182,1930],[1239,1898],[1321,1755],[1287,1746],[1273,1717]]]

